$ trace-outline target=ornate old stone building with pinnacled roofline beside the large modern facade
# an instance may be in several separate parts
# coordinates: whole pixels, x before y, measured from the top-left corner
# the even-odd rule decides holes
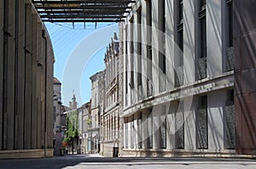
[[[117,156],[119,152],[119,38],[116,33],[105,54],[105,100],[101,114],[101,154]],[[114,152],[113,152],[114,149]]]

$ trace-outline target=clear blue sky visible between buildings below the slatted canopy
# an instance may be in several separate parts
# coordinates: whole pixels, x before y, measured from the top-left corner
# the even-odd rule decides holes
[[[79,106],[90,100],[90,76],[104,69],[104,54],[118,24],[45,23],[55,53],[54,76],[62,82],[62,103],[77,97]]]

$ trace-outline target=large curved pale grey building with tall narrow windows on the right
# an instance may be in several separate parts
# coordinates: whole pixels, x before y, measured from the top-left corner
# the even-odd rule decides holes
[[[236,154],[232,2],[131,4],[122,155]]]

